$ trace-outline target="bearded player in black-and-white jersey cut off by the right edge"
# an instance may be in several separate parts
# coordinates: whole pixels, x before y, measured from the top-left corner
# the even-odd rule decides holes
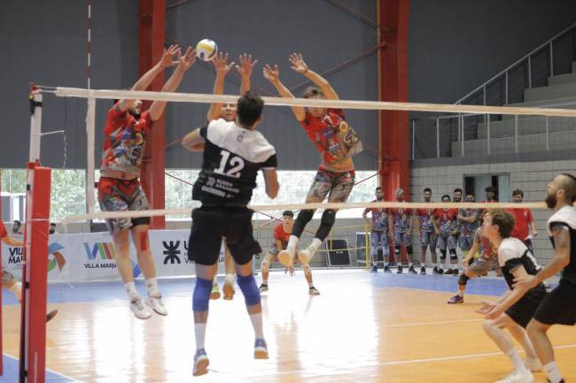
[[[559,174],[548,184],[546,204],[555,213],[548,220],[548,233],[554,247],[554,258],[537,275],[518,278],[515,286],[529,288],[558,272],[558,286],[544,299],[528,325],[534,349],[544,365],[549,382],[564,382],[554,358],[547,332],[550,326],[574,326],[576,323],[576,178]]]

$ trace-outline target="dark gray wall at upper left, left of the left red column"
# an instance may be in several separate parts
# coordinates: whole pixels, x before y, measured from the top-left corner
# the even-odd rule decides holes
[[[92,7],[92,87],[121,88],[138,71],[136,0],[101,0]],[[30,137],[28,83],[86,88],[86,2],[0,2],[0,167],[26,167]],[[97,126],[106,105],[98,103]],[[109,104],[109,103],[108,103]],[[44,96],[43,132],[66,129],[67,167],[86,165],[86,100]],[[62,167],[63,137],[42,141],[44,165]],[[97,148],[100,148],[101,144]]]

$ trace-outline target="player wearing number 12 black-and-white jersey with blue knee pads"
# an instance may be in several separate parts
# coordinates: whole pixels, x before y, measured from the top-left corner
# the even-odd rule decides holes
[[[252,257],[261,252],[253,238],[253,211],[246,205],[256,188],[256,176],[263,170],[266,193],[276,198],[276,149],[255,130],[261,121],[264,103],[260,96],[246,92],[238,99],[235,121],[216,119],[183,139],[187,149],[204,147],[202,170],[192,189],[192,199],[202,206],[192,211],[188,256],[196,264],[196,285],[192,297],[196,355],[193,374],[203,375],[209,364],[204,339],[212,280],[216,272],[222,237],[236,263],[237,284],[245,296],[256,341],[254,357],[268,358],[262,330],[261,297],[252,273]]]

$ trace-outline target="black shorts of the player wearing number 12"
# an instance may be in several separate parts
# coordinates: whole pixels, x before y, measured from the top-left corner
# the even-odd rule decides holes
[[[211,265],[218,261],[222,237],[237,264],[247,264],[262,251],[254,240],[253,211],[243,207],[206,207],[192,211],[192,229],[188,241],[188,257],[197,264]]]

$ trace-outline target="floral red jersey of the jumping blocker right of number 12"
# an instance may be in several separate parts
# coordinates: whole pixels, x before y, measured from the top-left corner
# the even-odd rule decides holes
[[[324,164],[334,164],[362,150],[362,142],[344,119],[341,109],[328,108],[322,118],[307,111],[306,119],[300,121],[300,125],[322,154]]]

